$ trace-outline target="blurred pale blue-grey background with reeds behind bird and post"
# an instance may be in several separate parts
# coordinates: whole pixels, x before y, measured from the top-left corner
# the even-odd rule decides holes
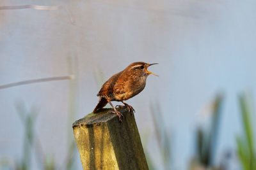
[[[159,62],[127,101],[150,169],[256,169],[255,7],[1,0],[0,169],[82,169],[72,123],[136,61]]]

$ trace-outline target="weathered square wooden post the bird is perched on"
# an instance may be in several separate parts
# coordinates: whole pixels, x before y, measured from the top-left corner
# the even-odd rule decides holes
[[[73,124],[83,169],[148,169],[134,119],[120,109],[123,122],[110,109],[90,113]]]

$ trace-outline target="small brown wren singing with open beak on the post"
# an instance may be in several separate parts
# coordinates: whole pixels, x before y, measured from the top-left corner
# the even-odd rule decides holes
[[[158,63],[154,63],[158,64]],[[100,97],[99,103],[93,110],[93,112],[99,110],[106,106],[106,104],[110,104],[122,122],[122,113],[116,110],[111,101],[120,101],[124,103],[127,99],[136,96],[139,94],[146,85],[147,76],[151,73],[147,70],[149,66],[154,64],[147,64],[145,62],[133,62],[128,67],[126,67],[123,71],[111,76],[104,85],[102,85],[97,96]],[[154,74],[157,76],[157,74]],[[124,103],[125,106],[119,107],[127,107],[128,111],[133,113],[135,112],[132,106],[127,103]]]

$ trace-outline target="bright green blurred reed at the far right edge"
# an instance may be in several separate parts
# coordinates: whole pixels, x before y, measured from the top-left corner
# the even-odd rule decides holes
[[[241,110],[243,135],[237,136],[236,138],[237,154],[244,170],[255,170],[256,150],[253,136],[253,118],[248,96],[246,96],[246,94],[241,94],[239,96],[239,106]]]

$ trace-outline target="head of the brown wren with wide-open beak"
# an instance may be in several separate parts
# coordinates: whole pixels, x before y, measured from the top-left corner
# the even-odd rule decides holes
[[[147,64],[146,62],[133,62],[126,68],[126,70],[137,76],[148,76],[149,74],[153,74],[157,76],[157,74],[154,74],[148,71],[147,69],[149,66],[152,66],[154,64],[158,64],[158,63]]]

